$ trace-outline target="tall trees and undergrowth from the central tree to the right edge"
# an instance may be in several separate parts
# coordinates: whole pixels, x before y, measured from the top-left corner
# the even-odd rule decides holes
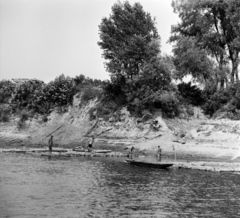
[[[156,21],[141,4],[118,2],[102,19],[98,45],[111,75],[108,93],[139,115],[179,116],[190,103],[209,116],[238,119],[240,1],[173,0],[172,6],[181,20],[169,39],[173,56],[161,54]],[[198,85],[176,85],[186,76]]]

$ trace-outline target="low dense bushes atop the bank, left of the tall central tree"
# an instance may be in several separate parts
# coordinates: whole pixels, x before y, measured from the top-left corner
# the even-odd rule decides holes
[[[84,75],[75,78],[61,75],[55,80],[44,83],[40,80],[27,80],[18,83],[9,80],[0,81],[0,122],[9,121],[12,114],[20,115],[22,121],[35,114],[48,115],[53,110],[64,112],[72,104],[77,93],[83,93],[88,100],[94,87],[101,86],[101,80]]]

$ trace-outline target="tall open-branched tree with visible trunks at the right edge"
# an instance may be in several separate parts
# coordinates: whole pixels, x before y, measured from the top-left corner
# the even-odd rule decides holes
[[[218,79],[226,80],[224,66],[232,63],[231,82],[238,80],[239,3],[237,0],[173,0],[181,23],[172,28],[174,37],[194,37],[196,45],[206,49],[219,64]]]

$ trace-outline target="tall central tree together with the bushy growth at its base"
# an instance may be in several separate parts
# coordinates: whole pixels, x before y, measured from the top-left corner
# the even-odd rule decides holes
[[[171,57],[160,56],[160,37],[150,14],[139,3],[118,2],[99,29],[98,44],[111,73],[104,84],[106,96],[139,116],[155,109],[175,116],[177,98],[172,92],[166,96],[174,65]]]

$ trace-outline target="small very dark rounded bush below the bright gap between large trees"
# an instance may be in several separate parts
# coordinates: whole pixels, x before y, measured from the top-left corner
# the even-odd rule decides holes
[[[191,82],[178,84],[178,91],[189,104],[200,106],[205,102],[203,92],[196,85],[192,85]]]

